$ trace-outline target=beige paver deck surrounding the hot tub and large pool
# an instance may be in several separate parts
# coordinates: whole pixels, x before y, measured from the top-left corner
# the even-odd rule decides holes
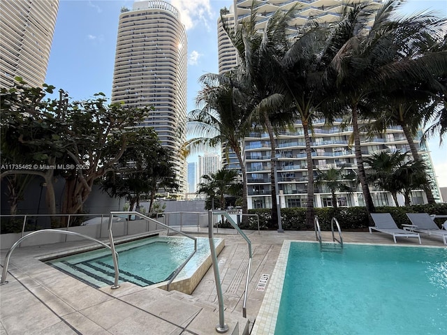
[[[205,232],[205,230],[203,230]],[[264,291],[256,290],[263,274],[272,274],[285,239],[314,241],[313,231],[244,231],[251,239],[253,260],[249,280],[247,319],[242,300],[247,276],[247,242],[234,230],[219,229],[214,237],[225,239],[219,255],[226,334],[249,332],[256,322]],[[195,233],[204,237],[205,234]],[[394,244],[379,232],[344,232],[346,243]],[[330,240],[330,232],[323,232]],[[419,246],[414,239],[398,238],[400,245]],[[39,255],[85,246],[86,242],[47,244],[16,248],[9,265],[8,284],[0,286],[0,335],[8,334],[218,334],[217,293],[212,268],[192,295],[140,288],[123,283],[121,288],[96,289],[36,260]],[[445,247],[441,239],[422,237],[422,246]],[[1,264],[7,250],[1,250]]]

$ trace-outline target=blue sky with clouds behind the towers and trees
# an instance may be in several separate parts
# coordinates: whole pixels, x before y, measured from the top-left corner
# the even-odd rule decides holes
[[[75,100],[103,92],[110,98],[120,9],[133,0],[60,0],[45,82],[64,89]],[[218,73],[217,18],[233,0],[168,0],[177,7],[188,36],[188,106],[195,99],[204,73]],[[434,10],[447,17],[447,0],[407,0],[402,14]],[[440,187],[447,187],[447,138],[428,142]],[[196,158],[189,158],[194,161]]]

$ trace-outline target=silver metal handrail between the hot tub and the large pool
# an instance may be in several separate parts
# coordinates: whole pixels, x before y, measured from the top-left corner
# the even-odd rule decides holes
[[[214,248],[214,239],[213,239],[213,215],[218,216],[224,216],[228,222],[230,222],[231,225],[233,225],[233,228],[237,230],[241,234],[241,236],[247,241],[247,244],[249,246],[249,264],[247,266],[247,280],[245,281],[245,290],[244,290],[244,301],[242,303],[242,316],[244,318],[247,318],[247,295],[248,295],[248,288],[249,288],[249,281],[250,281],[250,270],[251,270],[251,260],[253,258],[253,255],[251,253],[251,241],[247,237],[244,232],[239,228],[239,226],[233,221],[233,218],[231,218],[230,214],[228,214],[226,211],[209,211],[208,212],[208,239],[210,240],[210,251],[212,255],[212,266],[214,270],[214,280],[216,282],[216,289],[217,289],[217,299],[219,301],[219,324],[216,326],[216,330],[219,333],[224,333],[228,331],[228,325],[225,323],[225,318],[223,314],[224,306],[223,306],[223,294],[222,294],[222,285],[220,281],[220,274],[219,274],[219,266],[217,264],[217,255],[216,250]]]

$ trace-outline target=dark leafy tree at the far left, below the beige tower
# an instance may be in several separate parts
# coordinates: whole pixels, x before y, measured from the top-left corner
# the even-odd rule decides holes
[[[66,148],[59,122],[63,95],[60,94],[59,100],[43,100],[53,91],[54,87],[46,84],[43,88],[28,87],[21,77],[15,77],[15,86],[2,88],[0,96],[2,164],[14,164],[11,169],[2,171],[0,178],[13,181],[9,183],[14,189],[10,194],[20,194],[24,184],[16,181],[27,179],[18,176],[41,177],[46,185],[49,214],[56,214],[53,181],[58,173],[54,166],[64,156]],[[15,204],[13,201],[13,211]]]

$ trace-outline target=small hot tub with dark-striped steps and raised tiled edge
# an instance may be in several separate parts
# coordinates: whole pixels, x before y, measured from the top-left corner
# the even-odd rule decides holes
[[[215,244],[217,251],[221,251],[223,240],[215,239]],[[115,249],[119,254],[119,282],[147,286],[168,281],[193,252],[194,241],[187,237],[149,237],[118,244]],[[196,254],[179,272],[171,288],[182,292],[193,290],[191,286],[197,285],[210,267],[209,258],[209,241],[199,237]],[[96,288],[113,284],[115,272],[108,249],[69,255],[46,263]]]

